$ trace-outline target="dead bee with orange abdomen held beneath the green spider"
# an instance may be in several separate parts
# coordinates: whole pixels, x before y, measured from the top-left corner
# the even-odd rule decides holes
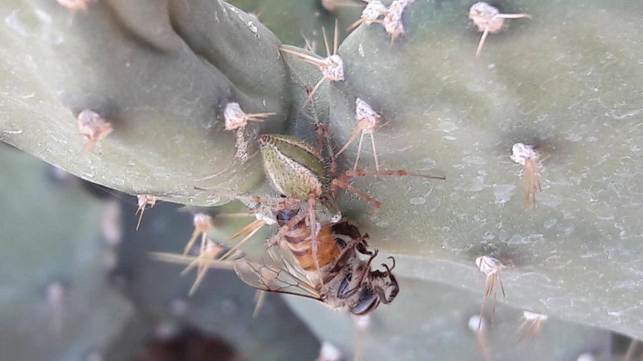
[[[286,224],[296,211],[283,210],[277,222]],[[371,270],[377,251],[369,251],[368,234],[348,220],[321,226],[318,235],[319,271],[312,260],[310,228],[305,220],[290,229],[282,238],[282,249],[291,251],[292,258],[269,249],[260,263],[240,258],[235,272],[250,286],[269,292],[294,294],[321,301],[331,308],[365,315],[380,303],[391,303],[399,286],[391,273],[395,267],[382,264],[386,270]]]

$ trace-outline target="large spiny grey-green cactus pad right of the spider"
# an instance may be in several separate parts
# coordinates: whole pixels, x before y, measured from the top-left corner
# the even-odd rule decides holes
[[[346,81],[327,89],[336,141],[355,127],[360,97],[383,115],[381,166],[447,178],[354,182],[385,204],[372,243],[399,256],[404,276],[476,293],[484,282],[473,261],[493,254],[510,265],[503,301],[641,338],[643,53],[629,44],[642,41],[643,8],[505,5],[533,19],[489,35],[478,61],[466,1],[410,4],[394,46],[376,24],[341,44]],[[613,35],[597,41],[607,28]],[[542,154],[535,210],[523,211],[522,167],[509,159],[518,142]]]

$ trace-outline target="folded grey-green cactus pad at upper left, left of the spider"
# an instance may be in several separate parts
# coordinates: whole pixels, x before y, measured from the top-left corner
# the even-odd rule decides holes
[[[282,132],[291,112],[279,42],[254,17],[221,1],[5,1],[0,13],[3,141],[93,182],[180,202],[206,203],[195,185],[246,191],[262,179],[258,157],[235,163],[222,127],[229,101],[277,113],[255,132]],[[85,109],[114,131],[79,155]]]

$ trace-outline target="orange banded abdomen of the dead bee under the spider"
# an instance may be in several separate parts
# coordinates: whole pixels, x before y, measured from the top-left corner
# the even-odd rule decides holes
[[[284,238],[300,267],[307,271],[316,270],[312,260],[311,230],[306,226],[305,222],[301,222],[294,229],[291,229]],[[336,260],[338,256],[340,256],[340,249],[338,249],[332,236],[331,227],[321,227],[317,236],[317,260],[320,267],[328,265]]]

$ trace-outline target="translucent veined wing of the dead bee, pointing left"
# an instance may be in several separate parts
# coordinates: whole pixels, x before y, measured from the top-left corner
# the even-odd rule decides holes
[[[237,276],[259,290],[300,295],[321,301],[321,296],[305,272],[273,249],[264,253],[260,262],[239,258],[235,261]]]

